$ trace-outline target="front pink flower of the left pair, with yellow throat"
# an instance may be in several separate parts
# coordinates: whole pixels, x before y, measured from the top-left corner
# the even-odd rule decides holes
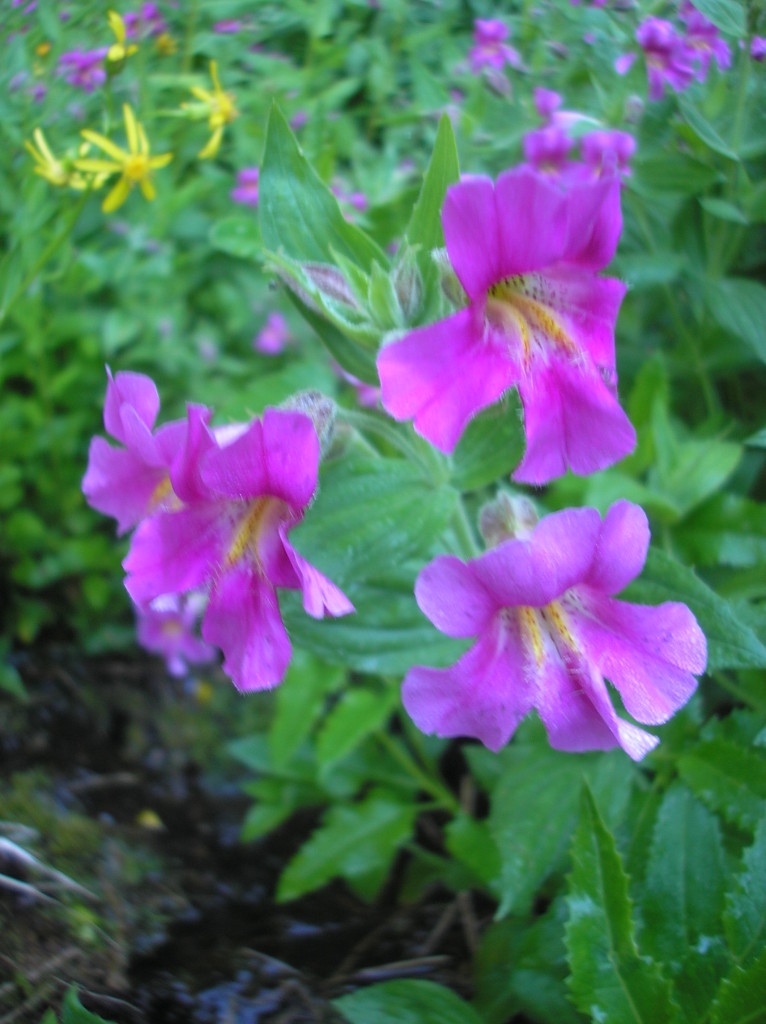
[[[292,653],[278,588],[300,590],[314,618],[353,606],[288,540],[316,490],[311,419],[267,409],[224,436],[209,429],[209,418],[189,407],[171,472],[179,507],[141,522],[124,562],[125,586],[136,603],[208,590],[203,639],[223,650],[223,669],[239,689],[263,689],[282,682]]]

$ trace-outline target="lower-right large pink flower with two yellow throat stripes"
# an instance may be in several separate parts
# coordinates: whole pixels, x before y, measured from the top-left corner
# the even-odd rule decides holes
[[[666,722],[696,687],[707,644],[684,604],[614,600],[643,567],[646,516],[620,501],[606,516],[565,509],[469,562],[442,555],[418,577],[421,610],[442,633],[475,637],[449,669],[416,667],[405,708],[424,732],[475,736],[493,751],[537,709],[551,745],[620,745],[639,760],[657,742],[619,718],[604,677],[638,722]]]

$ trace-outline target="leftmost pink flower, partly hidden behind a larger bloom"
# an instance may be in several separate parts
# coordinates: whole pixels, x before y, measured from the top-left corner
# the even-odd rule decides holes
[[[186,424],[175,421],[153,432],[160,411],[154,382],[143,374],[113,377],[109,367],[107,376],[103,425],[124,447],[94,437],[82,488],[91,508],[117,519],[122,535],[172,502],[170,466],[182,449]]]

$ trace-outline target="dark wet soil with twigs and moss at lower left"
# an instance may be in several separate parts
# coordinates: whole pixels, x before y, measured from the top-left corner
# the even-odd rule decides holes
[[[72,984],[117,1024],[329,1024],[335,996],[400,977],[468,994],[465,894],[400,905],[398,864],[373,905],[341,883],[274,902],[318,812],[240,843],[248,776],[222,737],[262,702],[148,659],[53,650],[18,669],[29,700],[0,705],[0,1024],[37,1024]]]

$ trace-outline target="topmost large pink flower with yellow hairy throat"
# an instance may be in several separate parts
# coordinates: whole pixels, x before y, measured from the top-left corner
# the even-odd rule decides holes
[[[464,178],[441,212],[468,306],[386,345],[382,401],[452,452],[468,421],[516,386],[526,453],[513,474],[592,473],[636,435],[615,396],[614,323],[625,286],[597,272],[622,229],[616,175],[574,181],[522,166]]]

